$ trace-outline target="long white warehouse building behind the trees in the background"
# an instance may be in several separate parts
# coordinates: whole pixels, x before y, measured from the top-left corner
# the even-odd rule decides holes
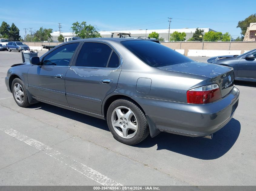
[[[198,29],[202,29],[204,30],[204,33],[207,33],[209,31],[214,31],[210,28],[198,28]],[[189,38],[191,38],[193,36],[193,33],[195,32],[196,28],[184,28],[184,29],[170,29],[170,34],[178,31],[178,32],[185,32],[187,34],[186,36],[186,40],[188,40]],[[131,37],[145,37],[149,35],[149,33],[152,32],[157,32],[159,33],[159,38],[163,38],[164,41],[168,41],[168,32],[169,29],[155,29],[155,30],[117,30],[117,31],[99,31],[99,33],[101,34],[101,37],[104,38],[109,38],[111,37],[111,33],[131,33]],[[203,34],[204,34],[203,33]],[[75,33],[72,32],[68,32],[68,33],[61,33],[64,37],[75,37]],[[52,36],[52,40],[54,42],[58,42],[58,36],[59,36],[59,31],[55,31],[53,33],[51,33]],[[119,36],[117,36],[117,34],[114,34],[113,37],[118,38]]]

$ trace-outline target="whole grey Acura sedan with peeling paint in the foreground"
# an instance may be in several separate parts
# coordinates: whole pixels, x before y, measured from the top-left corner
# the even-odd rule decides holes
[[[233,68],[127,38],[62,43],[12,65],[5,83],[18,106],[41,101],[105,119],[114,138],[127,145],[160,132],[212,138],[239,99]]]

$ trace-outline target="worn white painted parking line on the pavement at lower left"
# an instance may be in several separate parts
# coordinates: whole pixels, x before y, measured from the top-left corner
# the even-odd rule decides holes
[[[28,144],[40,151],[44,151],[45,154],[47,154],[48,156],[55,158],[57,161],[78,171],[79,173],[85,175],[86,177],[90,178],[91,180],[96,181],[97,183],[99,183],[103,186],[122,186],[120,183],[106,177],[105,175],[99,173],[98,171],[93,170],[92,168],[72,159],[69,156],[66,156],[65,154],[60,153],[59,151],[57,151],[45,144],[33,139],[33,138],[23,135],[22,133],[14,130],[14,129],[0,128],[0,130],[2,130],[6,134],[11,135],[14,138],[16,138],[22,142],[25,142],[26,144]]]

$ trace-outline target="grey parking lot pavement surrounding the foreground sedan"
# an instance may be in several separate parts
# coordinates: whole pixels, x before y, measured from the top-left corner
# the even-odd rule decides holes
[[[256,185],[255,83],[235,82],[238,108],[212,140],[160,133],[128,146],[105,120],[18,107],[4,79],[20,62],[21,53],[0,52],[0,185]]]

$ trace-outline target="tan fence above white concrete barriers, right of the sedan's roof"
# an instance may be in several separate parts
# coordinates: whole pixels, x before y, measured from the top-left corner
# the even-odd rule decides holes
[[[189,49],[194,50],[246,50],[256,49],[256,41],[230,41],[230,42],[161,42],[162,45],[171,49],[184,49],[188,55]]]

